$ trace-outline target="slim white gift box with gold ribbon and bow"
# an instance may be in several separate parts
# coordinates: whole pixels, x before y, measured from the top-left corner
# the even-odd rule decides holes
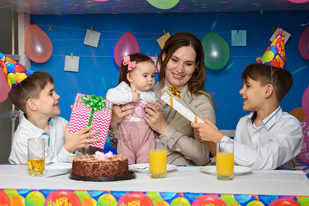
[[[202,119],[206,119],[205,115],[190,103],[183,100],[180,93],[179,89],[170,87],[168,90],[161,93],[161,100],[181,113],[181,115],[187,118],[190,122],[204,123]]]

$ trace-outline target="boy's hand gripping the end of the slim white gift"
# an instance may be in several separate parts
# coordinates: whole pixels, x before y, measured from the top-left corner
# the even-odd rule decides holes
[[[206,117],[208,117],[208,115],[206,115]],[[222,137],[225,136],[208,118],[202,120],[205,122],[205,124],[191,122],[191,126],[194,129],[196,138],[206,142],[211,141],[217,143],[217,141],[220,141]]]

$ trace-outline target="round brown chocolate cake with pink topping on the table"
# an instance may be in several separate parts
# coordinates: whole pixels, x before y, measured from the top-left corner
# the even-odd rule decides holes
[[[95,152],[95,155],[75,157],[72,163],[72,175],[88,177],[115,177],[129,174],[128,159],[123,155]]]

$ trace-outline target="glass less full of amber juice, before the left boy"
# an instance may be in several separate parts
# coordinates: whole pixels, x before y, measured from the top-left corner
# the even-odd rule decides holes
[[[43,176],[45,170],[45,139],[28,139],[28,175]]]

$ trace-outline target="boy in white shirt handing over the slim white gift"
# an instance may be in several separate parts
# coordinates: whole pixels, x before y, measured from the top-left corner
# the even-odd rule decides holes
[[[196,137],[207,142],[213,156],[216,142],[234,141],[236,165],[254,170],[295,168],[304,139],[301,124],[279,105],[293,85],[290,72],[273,67],[271,60],[267,60],[248,65],[242,71],[242,82],[242,108],[252,112],[240,119],[234,139],[220,133],[209,119],[203,119],[205,124],[191,123]]]

